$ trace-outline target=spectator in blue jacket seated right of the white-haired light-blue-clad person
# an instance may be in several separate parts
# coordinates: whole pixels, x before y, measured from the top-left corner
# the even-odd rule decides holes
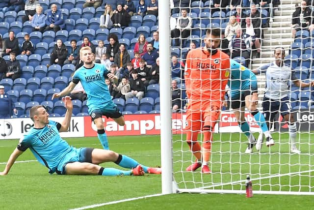
[[[51,11],[47,13],[45,22],[47,25],[45,31],[54,30],[54,32],[57,32],[61,30],[60,25],[63,24],[63,15],[61,10],[57,9],[56,4],[51,5]]]

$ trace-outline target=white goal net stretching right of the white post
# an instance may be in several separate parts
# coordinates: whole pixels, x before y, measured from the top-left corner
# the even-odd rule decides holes
[[[220,2],[220,5],[217,2]],[[233,2],[234,0],[232,0]],[[230,7],[230,2],[221,5],[224,1],[212,0],[192,0],[188,7],[184,6],[183,0],[179,3],[174,2],[172,5],[170,20],[171,72],[172,80],[177,82],[177,88],[180,90],[180,97],[177,99],[180,100],[180,103],[173,113],[173,118],[183,121],[182,129],[173,129],[172,162],[176,192],[244,193],[245,180],[249,175],[254,193],[314,194],[314,144],[312,140],[314,89],[300,85],[308,84],[314,78],[314,33],[311,28],[311,24],[314,24],[312,13],[314,7],[310,1],[311,5],[307,5],[305,8],[307,11],[311,11],[310,17],[306,17],[307,13],[303,9],[306,1],[271,0],[269,2],[245,5],[246,1],[241,0],[239,6],[233,5],[234,8]],[[238,13],[239,9],[240,13]],[[299,10],[300,12],[297,13],[296,11]],[[187,13],[187,18],[184,11]],[[298,19],[296,22],[299,21],[299,25],[295,25],[292,17]],[[190,21],[192,23],[189,23]],[[291,28],[291,24],[293,24],[293,28]],[[265,100],[267,83],[265,73],[271,71],[270,63],[273,63],[271,66],[276,64],[275,49],[282,49],[281,51],[285,53],[285,66],[289,67],[288,82],[284,75],[279,78],[270,77],[268,78],[269,83],[267,83],[268,86],[270,83],[279,83],[282,88],[284,84],[288,86],[288,101],[285,103],[288,110],[285,112],[281,101],[282,96],[287,93],[285,90],[276,93],[281,98],[277,100],[280,105],[277,110],[271,110],[271,112],[279,111],[269,126],[274,145],[266,147],[266,138],[264,137],[260,150],[256,150],[254,146],[253,150],[246,153],[249,140],[241,131],[234,109],[230,106],[231,96],[229,95],[229,98],[226,96],[226,100],[229,102],[228,106],[223,107],[214,128],[208,162],[210,174],[202,173],[202,167],[195,171],[186,171],[189,165],[196,162],[196,157],[187,144],[184,130],[187,127],[186,104],[191,102],[191,99],[186,96],[188,85],[184,80],[184,66],[187,65],[186,54],[191,47],[194,48],[194,45],[196,48],[205,46],[204,38],[208,28],[219,28],[222,31],[223,41],[219,47],[228,53],[230,58],[249,69],[259,69],[256,75],[257,112],[260,111],[264,117],[266,115],[263,112],[263,106],[265,106],[263,100]],[[238,29],[242,32],[239,36],[237,35]],[[293,32],[293,30],[295,31]],[[240,37],[239,41],[236,41],[238,37]],[[265,66],[266,64],[268,65]],[[202,81],[197,82],[202,83]],[[239,83],[244,82],[240,79]],[[249,90],[251,94],[254,92],[252,89]],[[269,109],[271,109],[270,106]],[[262,133],[258,120],[253,113],[245,110],[243,114],[250,126],[250,132],[255,139],[258,139]],[[281,113],[293,116],[295,122],[287,122]],[[201,148],[204,144],[203,137],[204,132],[200,131],[197,142]],[[202,160],[198,161],[203,164]]]

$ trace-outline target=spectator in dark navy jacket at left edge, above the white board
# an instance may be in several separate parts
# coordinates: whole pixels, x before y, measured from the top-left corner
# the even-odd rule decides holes
[[[4,86],[0,85],[0,119],[11,118],[12,111],[17,114],[11,97],[4,92]]]

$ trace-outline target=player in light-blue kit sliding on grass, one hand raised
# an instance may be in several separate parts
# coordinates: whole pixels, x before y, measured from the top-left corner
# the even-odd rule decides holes
[[[161,168],[149,168],[140,165],[131,157],[111,150],[71,147],[60,137],[59,132],[68,131],[73,104],[69,96],[62,98],[62,101],[67,109],[62,123],[49,120],[49,114],[41,105],[33,106],[30,109],[29,115],[34,121],[34,126],[21,138],[0,175],[8,174],[15,160],[27,148],[31,150],[41,164],[49,169],[51,174],[56,172],[60,175],[142,176],[145,174],[144,168],[151,174],[161,173]],[[98,165],[104,162],[114,162],[131,170],[122,171],[115,168],[103,168]]]

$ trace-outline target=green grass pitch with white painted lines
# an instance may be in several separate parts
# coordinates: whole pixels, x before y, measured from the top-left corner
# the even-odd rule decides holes
[[[313,145],[309,143],[309,134],[300,135],[300,149],[307,154],[289,154],[288,136],[273,135],[280,144],[271,150],[265,146],[261,153],[242,154],[245,150],[245,139],[239,140],[239,134],[215,134],[212,146],[212,175],[202,176],[196,173],[179,173],[188,166],[191,154],[181,136],[174,135],[174,176],[179,187],[210,186],[218,182],[243,180],[247,173],[252,179],[280,173],[313,170]],[[183,137],[184,139],[184,137]],[[218,141],[217,139],[221,139]],[[67,138],[70,145],[75,147],[101,148],[97,138]],[[0,141],[0,171],[11,152],[17,145],[17,140]],[[109,137],[110,149],[129,155],[144,165],[160,165],[160,137],[132,136]],[[280,151],[280,155],[278,153]],[[29,150],[24,152],[17,161],[34,160]],[[219,163],[221,162],[221,163]],[[271,164],[269,164],[271,163]],[[290,166],[288,165],[290,163]],[[291,165],[292,164],[292,165]],[[103,167],[119,166],[113,163],[102,164]],[[220,176],[223,173],[223,176]],[[231,173],[233,174],[231,179]],[[254,190],[290,190],[313,191],[313,172],[299,175],[284,176],[253,181]],[[311,178],[311,179],[310,179]],[[192,180],[194,183],[192,183]],[[217,186],[217,189],[243,189],[243,183]],[[212,189],[213,187],[209,188]],[[309,189],[311,188],[311,189]],[[49,175],[46,167],[38,162],[16,163],[9,175],[0,177],[0,209],[1,210],[66,210],[89,205],[101,204],[122,199],[140,197],[161,193],[161,176],[144,177],[104,177],[104,176],[59,176]],[[112,204],[95,209],[126,210],[189,210],[189,209],[314,209],[313,196],[282,196],[254,195],[245,198],[243,194],[172,194],[159,197],[140,199],[130,202]],[[257,206],[258,205],[258,206]]]

